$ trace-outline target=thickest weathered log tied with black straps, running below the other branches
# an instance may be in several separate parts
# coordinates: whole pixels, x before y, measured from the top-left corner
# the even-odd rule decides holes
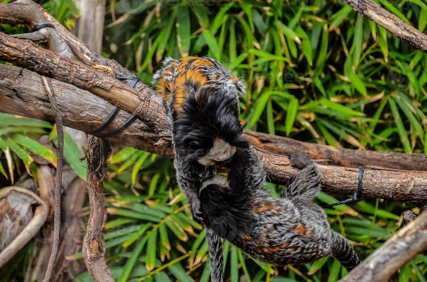
[[[53,121],[52,109],[47,103],[39,75],[13,66],[0,66],[0,103],[2,112],[25,115]],[[91,92],[67,83],[52,80],[54,88],[61,89],[57,103],[61,109],[64,125],[82,131],[98,128],[114,109],[110,103]],[[129,118],[130,114],[120,112],[116,120],[105,132],[117,128]],[[158,155],[173,158],[170,146],[158,146],[159,136],[136,120],[123,132],[108,138],[126,146],[135,147]],[[257,144],[254,144],[255,146]],[[289,159],[262,149],[257,149],[268,171],[270,181],[285,183],[298,172],[290,167]],[[354,168],[320,166],[324,191],[352,194],[357,190],[358,170]],[[367,197],[414,204],[427,203],[427,172],[401,171],[367,167],[364,175],[363,192]]]

